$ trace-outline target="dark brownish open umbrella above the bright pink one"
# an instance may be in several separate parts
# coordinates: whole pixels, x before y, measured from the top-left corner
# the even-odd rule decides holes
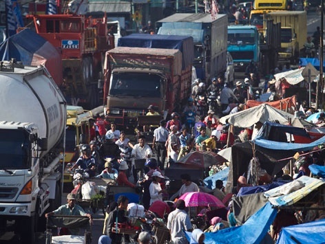
[[[182,157],[178,163],[189,166],[198,166],[198,168],[209,168],[209,166],[222,164],[227,159],[211,151],[194,151]]]

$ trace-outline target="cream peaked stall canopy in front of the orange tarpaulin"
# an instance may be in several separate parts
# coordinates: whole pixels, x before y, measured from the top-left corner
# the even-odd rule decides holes
[[[220,122],[222,124],[227,124],[228,122],[233,126],[247,128],[253,126],[257,122],[264,124],[266,121],[274,120],[279,121],[280,124],[286,124],[289,118],[293,119],[293,115],[281,111],[280,109],[275,109],[268,104],[260,104],[257,107],[226,115],[220,118]]]

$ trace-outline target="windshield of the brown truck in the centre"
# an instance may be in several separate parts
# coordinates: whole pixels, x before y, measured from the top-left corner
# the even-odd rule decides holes
[[[116,73],[109,87],[111,96],[160,98],[162,78],[157,74]]]

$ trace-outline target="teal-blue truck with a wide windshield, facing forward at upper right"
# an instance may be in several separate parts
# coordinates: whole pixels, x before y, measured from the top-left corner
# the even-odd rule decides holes
[[[260,35],[254,25],[228,26],[228,52],[238,71],[245,71],[251,60],[260,65]]]

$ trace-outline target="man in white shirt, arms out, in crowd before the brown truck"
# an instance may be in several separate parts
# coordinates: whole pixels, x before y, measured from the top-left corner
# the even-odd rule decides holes
[[[140,135],[138,138],[138,144],[134,145],[132,148],[131,157],[134,159],[144,159],[143,166],[145,165],[145,161],[149,159],[153,155],[152,150],[148,144],[145,144],[145,136]],[[134,183],[138,181],[137,170],[134,166],[134,162],[132,162],[132,172],[134,177]]]

